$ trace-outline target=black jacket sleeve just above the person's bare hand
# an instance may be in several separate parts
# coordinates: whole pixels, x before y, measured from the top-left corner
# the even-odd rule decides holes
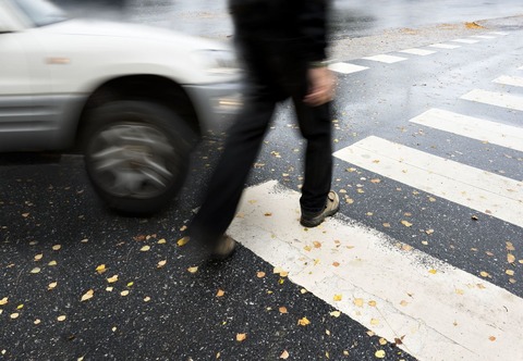
[[[327,59],[328,10],[330,0],[299,0],[297,22],[305,40],[305,57],[308,62]]]

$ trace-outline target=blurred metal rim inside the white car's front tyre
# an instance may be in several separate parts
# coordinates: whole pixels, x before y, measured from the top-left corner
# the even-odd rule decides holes
[[[160,129],[117,124],[93,137],[88,162],[94,180],[117,197],[153,198],[172,185],[181,161]]]

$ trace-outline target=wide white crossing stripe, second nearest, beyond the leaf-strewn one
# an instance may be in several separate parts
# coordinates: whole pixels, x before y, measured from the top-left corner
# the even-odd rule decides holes
[[[523,227],[523,182],[374,136],[335,157]]]

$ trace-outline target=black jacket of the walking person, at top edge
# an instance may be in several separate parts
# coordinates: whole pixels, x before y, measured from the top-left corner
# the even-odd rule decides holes
[[[265,41],[305,62],[327,58],[329,0],[229,0],[235,38]]]

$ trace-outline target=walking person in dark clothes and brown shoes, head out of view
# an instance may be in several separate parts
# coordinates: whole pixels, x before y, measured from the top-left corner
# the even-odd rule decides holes
[[[330,190],[335,78],[326,64],[328,0],[230,0],[229,9],[246,71],[245,104],[188,228],[191,239],[215,259],[234,251],[226,231],[275,108],[283,100],[292,100],[306,139],[301,224],[315,227],[339,209],[339,197]]]

